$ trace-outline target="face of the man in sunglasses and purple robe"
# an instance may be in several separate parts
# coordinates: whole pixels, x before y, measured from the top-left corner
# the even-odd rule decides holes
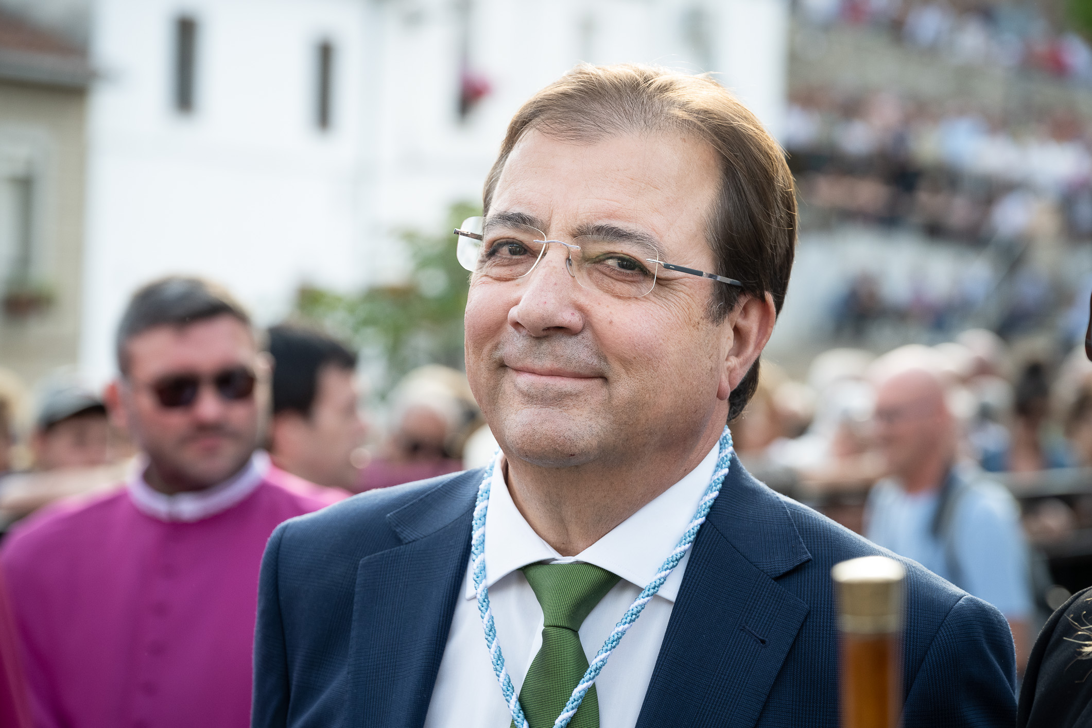
[[[126,345],[129,372],[120,383],[126,425],[158,476],[178,490],[201,490],[239,472],[258,442],[256,391],[241,399],[221,395],[212,379],[227,370],[260,371],[249,329],[230,315],[186,326],[156,326]],[[201,378],[189,406],[165,407],[157,383]]]

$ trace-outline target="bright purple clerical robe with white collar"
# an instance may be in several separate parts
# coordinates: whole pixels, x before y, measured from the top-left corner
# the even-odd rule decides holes
[[[258,454],[232,480],[51,506],[0,551],[38,728],[246,728],[258,571],[281,522],[345,493]]]

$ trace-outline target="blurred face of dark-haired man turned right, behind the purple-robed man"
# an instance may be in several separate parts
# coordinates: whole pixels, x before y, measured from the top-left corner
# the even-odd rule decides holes
[[[320,486],[355,489],[360,469],[353,464],[353,451],[368,433],[358,399],[353,370],[322,367],[310,417],[294,411],[277,415],[273,440],[277,464]]]

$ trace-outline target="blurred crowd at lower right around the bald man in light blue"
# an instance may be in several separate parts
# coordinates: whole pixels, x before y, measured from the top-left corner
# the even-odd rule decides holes
[[[799,380],[763,363],[733,435],[760,479],[997,606],[1021,660],[1090,576],[1073,546],[1092,533],[1083,349],[969,330],[880,356],[830,349]]]

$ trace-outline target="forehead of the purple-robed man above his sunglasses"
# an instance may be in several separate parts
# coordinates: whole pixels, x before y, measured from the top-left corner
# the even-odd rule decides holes
[[[169,372],[212,372],[249,365],[257,344],[246,324],[224,314],[183,326],[154,326],[130,338],[126,353],[130,373],[152,379]]]

